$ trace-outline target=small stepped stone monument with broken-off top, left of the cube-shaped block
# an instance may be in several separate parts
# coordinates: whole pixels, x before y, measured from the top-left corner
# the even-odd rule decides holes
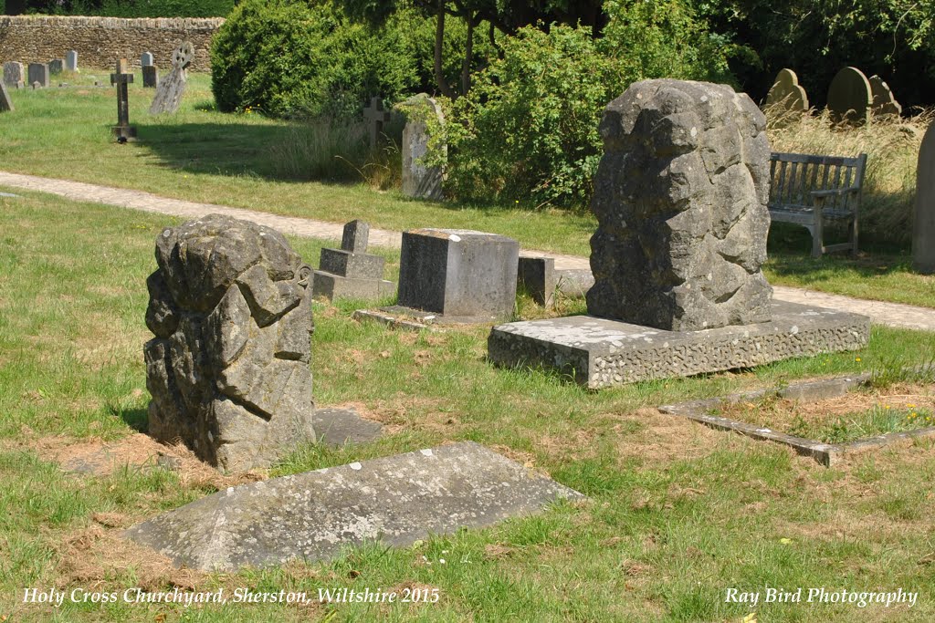
[[[370,226],[362,220],[344,225],[341,248],[323,248],[319,269],[312,280],[315,296],[329,301],[376,301],[393,294],[393,283],[383,279],[383,258],[367,253]]]

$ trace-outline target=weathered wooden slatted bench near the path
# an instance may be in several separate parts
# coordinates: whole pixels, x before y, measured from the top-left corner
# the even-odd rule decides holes
[[[812,234],[812,257],[829,251],[857,253],[857,220],[867,154],[856,158],[777,153],[770,156],[770,217],[803,225]],[[827,220],[843,220],[848,241],[824,243]]]

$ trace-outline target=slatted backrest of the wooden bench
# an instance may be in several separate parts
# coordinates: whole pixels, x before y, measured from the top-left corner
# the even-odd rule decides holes
[[[770,155],[770,207],[812,207],[811,192],[854,188],[840,198],[829,197],[831,210],[855,211],[860,205],[867,154],[856,158],[773,152]]]

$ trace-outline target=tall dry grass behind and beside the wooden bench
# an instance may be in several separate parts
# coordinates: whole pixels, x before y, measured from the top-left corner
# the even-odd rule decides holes
[[[875,117],[864,126],[841,128],[825,110],[796,119],[772,116],[767,132],[773,151],[834,156],[866,153],[861,236],[905,246],[913,231],[919,146],[933,119],[935,110],[928,110],[911,117]]]

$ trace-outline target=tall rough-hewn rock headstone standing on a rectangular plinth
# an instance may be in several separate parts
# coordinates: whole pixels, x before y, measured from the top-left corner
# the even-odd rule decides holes
[[[770,319],[766,118],[730,87],[644,80],[609,104],[588,312],[671,331]]]

